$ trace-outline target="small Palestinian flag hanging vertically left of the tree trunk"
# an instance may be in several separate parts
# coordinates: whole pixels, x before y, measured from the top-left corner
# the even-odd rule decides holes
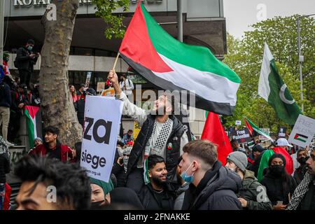
[[[41,113],[38,106],[25,106],[29,147],[34,146],[34,139],[41,137]]]

